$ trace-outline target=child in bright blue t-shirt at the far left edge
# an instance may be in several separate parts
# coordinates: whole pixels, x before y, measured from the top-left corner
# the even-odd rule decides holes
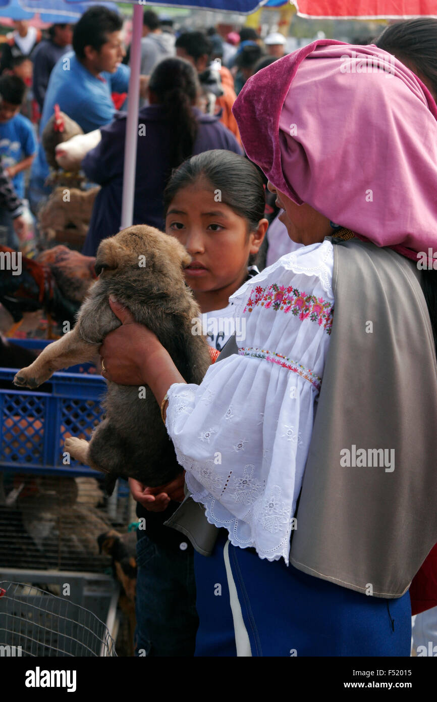
[[[16,194],[25,196],[24,171],[32,165],[36,139],[31,122],[20,114],[26,86],[18,76],[0,77],[0,155],[6,176],[11,178]],[[18,249],[18,238],[11,216],[0,212],[0,243]]]

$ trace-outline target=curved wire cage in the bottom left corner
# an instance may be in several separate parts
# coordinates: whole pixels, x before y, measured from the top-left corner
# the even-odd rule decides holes
[[[95,614],[32,585],[0,581],[0,650],[6,656],[116,656]]]

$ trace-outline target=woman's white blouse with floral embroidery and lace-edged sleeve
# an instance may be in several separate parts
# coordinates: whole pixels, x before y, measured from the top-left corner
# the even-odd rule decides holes
[[[280,258],[230,300],[246,338],[201,385],[168,390],[166,427],[189,491],[233,545],[288,563],[334,297],[332,241]],[[243,335],[241,335],[243,336]]]

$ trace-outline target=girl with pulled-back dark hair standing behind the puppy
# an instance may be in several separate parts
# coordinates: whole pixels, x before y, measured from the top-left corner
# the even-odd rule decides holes
[[[253,264],[267,230],[264,188],[257,169],[233,152],[212,150],[184,161],[164,193],[166,232],[192,257],[185,270],[201,316],[193,333],[206,333],[220,351],[235,332],[229,296],[257,274]],[[164,526],[184,498],[184,477],[157,489],[130,479],[137,516],[137,655],[192,656],[198,617],[193,547],[178,531]],[[169,635],[171,631],[171,635]]]

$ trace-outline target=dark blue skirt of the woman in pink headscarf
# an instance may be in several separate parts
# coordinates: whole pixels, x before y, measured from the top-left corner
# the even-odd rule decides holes
[[[287,567],[282,559],[269,562],[230,543],[225,549],[226,542],[222,530],[212,556],[194,552],[200,620],[195,656],[237,655],[229,564],[250,642],[242,655],[410,656],[409,592],[396,600],[363,595]]]

